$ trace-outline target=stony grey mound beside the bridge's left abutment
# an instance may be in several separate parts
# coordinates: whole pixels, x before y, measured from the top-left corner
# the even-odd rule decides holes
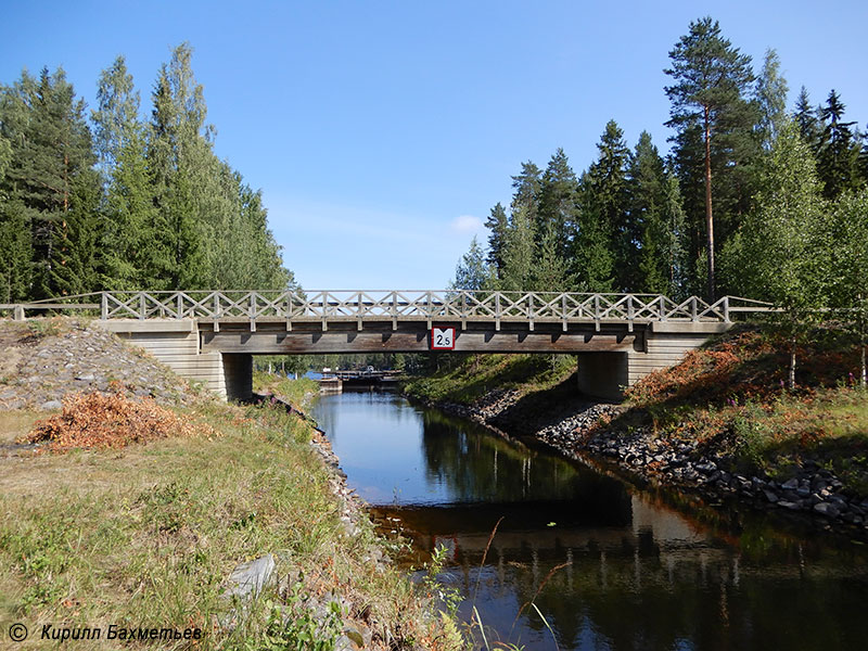
[[[167,367],[95,323],[0,321],[0,409],[60,409],[71,393],[125,391],[164,405],[196,392]]]

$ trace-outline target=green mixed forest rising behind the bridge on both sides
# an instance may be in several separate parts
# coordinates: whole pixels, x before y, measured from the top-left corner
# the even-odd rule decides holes
[[[260,192],[214,153],[191,56],[183,43],[159,68],[148,119],[123,56],[92,111],[63,69],[0,86],[0,303],[296,286]],[[864,314],[868,142],[844,99],[832,89],[814,104],[803,87],[788,108],[776,52],[754,66],[711,17],[668,62],[666,153],[648,132],[628,146],[612,119],[580,174],[562,149],[545,169],[522,163],[452,286]]]

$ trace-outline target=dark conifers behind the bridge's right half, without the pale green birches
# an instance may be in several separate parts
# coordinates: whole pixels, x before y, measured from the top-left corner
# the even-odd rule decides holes
[[[690,24],[669,60],[671,152],[661,155],[647,131],[628,146],[613,119],[579,175],[562,149],[545,169],[522,163],[511,202],[487,218],[487,250],[472,242],[455,286],[768,297],[750,278],[754,265],[745,269],[744,244],[788,174],[779,150],[793,138],[824,214],[855,209],[868,142],[834,90],[814,106],[803,87],[788,112],[776,52],[755,74],[710,17]]]

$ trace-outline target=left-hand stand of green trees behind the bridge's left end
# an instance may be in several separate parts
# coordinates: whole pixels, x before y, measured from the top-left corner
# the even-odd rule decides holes
[[[294,285],[261,193],[214,153],[191,56],[159,68],[150,119],[123,56],[90,113],[62,68],[0,86],[0,303]]]

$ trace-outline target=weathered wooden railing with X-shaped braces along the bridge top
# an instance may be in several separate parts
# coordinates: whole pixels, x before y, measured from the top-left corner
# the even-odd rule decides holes
[[[15,318],[27,311],[88,310],[101,319],[285,320],[293,322],[435,320],[494,322],[722,321],[738,312],[767,312],[768,303],[724,296],[709,304],[691,296],[676,302],[661,294],[447,291],[191,291],[95,292],[27,304],[0,304]]]

